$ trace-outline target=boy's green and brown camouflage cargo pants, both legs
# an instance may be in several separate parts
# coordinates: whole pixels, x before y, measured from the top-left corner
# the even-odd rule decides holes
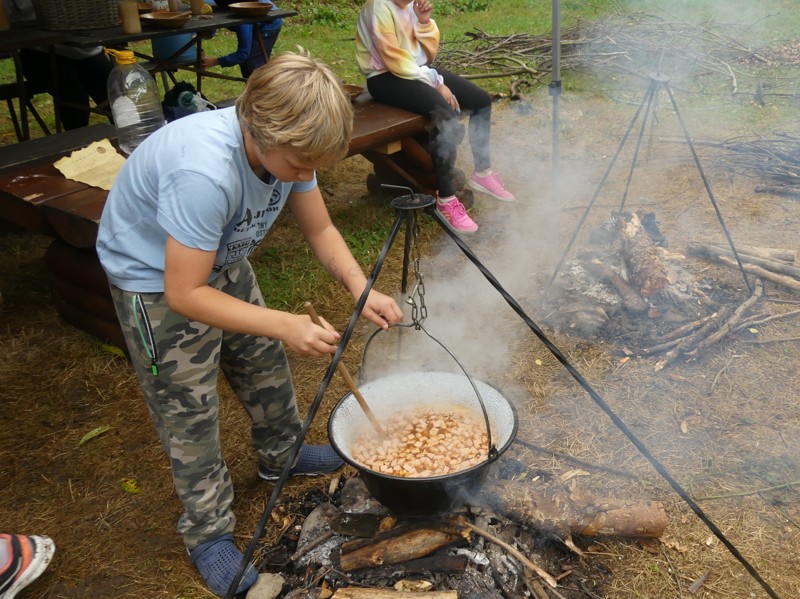
[[[264,299],[242,261],[213,286],[251,304]],[[112,285],[114,305],[147,406],[167,451],[184,512],[186,548],[233,531],[233,485],[222,457],[217,376],[221,369],[253,422],[259,460],[280,469],[301,423],[283,345],[223,332],[169,309],[163,293]]]

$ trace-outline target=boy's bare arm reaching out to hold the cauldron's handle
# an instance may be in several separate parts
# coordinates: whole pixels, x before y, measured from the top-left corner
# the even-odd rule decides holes
[[[358,300],[367,284],[367,277],[341,233],[331,222],[319,187],[307,192],[292,193],[288,206],[317,260]],[[370,291],[362,315],[384,329],[403,318],[397,303],[375,290]]]

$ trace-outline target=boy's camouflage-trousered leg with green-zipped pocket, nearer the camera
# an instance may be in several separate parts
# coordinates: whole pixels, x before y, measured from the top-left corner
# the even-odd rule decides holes
[[[219,281],[224,279],[220,275]],[[233,486],[219,440],[222,333],[170,310],[163,293],[134,294],[113,286],[111,293],[184,507],[178,531],[192,550],[232,532],[235,524]]]

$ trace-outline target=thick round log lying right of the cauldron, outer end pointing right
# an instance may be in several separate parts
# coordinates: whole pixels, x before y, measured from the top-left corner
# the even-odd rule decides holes
[[[597,497],[580,488],[540,490],[496,480],[484,484],[480,498],[519,524],[561,535],[658,538],[667,526],[658,501]]]

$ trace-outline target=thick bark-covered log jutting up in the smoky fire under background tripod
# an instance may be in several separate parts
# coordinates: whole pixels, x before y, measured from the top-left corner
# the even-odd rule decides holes
[[[666,289],[669,285],[667,267],[638,214],[620,216],[619,236],[631,281],[638,286],[641,294],[649,298]]]

